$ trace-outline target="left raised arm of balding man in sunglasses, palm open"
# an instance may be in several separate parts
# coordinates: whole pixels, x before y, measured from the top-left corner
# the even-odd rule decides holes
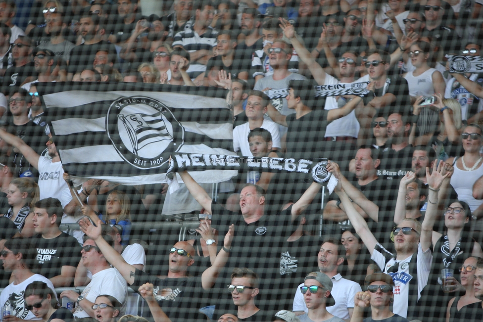
[[[119,254],[107,243],[107,241],[104,240],[104,238],[102,238],[102,221],[100,219],[97,220],[96,225],[97,226],[91,224],[87,218],[83,218],[79,221],[79,226],[82,232],[94,240],[106,261],[114,266],[119,273],[121,273],[122,277],[124,277],[129,285],[132,285],[134,283],[136,268],[126,263],[121,254]]]

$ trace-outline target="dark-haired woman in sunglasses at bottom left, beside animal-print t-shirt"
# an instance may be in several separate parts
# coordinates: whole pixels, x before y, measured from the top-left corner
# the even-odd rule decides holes
[[[27,310],[42,322],[73,322],[74,316],[66,308],[60,307],[53,291],[46,283],[35,281],[25,288]]]

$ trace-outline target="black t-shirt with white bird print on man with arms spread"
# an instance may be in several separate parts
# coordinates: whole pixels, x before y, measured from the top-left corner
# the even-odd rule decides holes
[[[206,304],[206,294],[201,285],[201,277],[164,278],[136,269],[134,283],[131,288],[138,292],[138,288],[151,283],[154,286],[156,300],[161,309],[171,321],[202,321],[206,318],[198,312]],[[152,318],[146,307],[143,317]]]

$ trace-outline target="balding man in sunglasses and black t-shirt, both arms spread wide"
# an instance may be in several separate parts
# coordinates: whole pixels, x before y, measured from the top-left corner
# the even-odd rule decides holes
[[[171,321],[204,320],[205,317],[198,309],[205,304],[208,295],[204,291],[211,289],[220,271],[224,268],[232,249],[235,226],[231,225],[224,239],[224,247],[219,251],[211,267],[207,268],[201,276],[190,276],[189,268],[194,264],[194,248],[186,241],[179,241],[169,248],[169,269],[167,277],[160,279],[129,265],[112,246],[102,237],[102,222],[97,221],[94,226],[87,219],[79,223],[81,230],[93,238],[95,245],[102,252],[105,259],[118,270],[131,287],[138,288],[145,283],[153,284],[155,301],[148,302],[151,312],[161,309]],[[87,288],[86,288],[87,289]],[[141,294],[142,295],[142,294]],[[62,295],[61,295],[62,297]],[[72,298],[69,295],[69,298]],[[203,299],[204,298],[204,299]],[[82,304],[83,301],[80,303]],[[92,305],[92,304],[91,304]],[[84,306],[83,306],[84,307]],[[149,312],[143,316],[151,318]]]

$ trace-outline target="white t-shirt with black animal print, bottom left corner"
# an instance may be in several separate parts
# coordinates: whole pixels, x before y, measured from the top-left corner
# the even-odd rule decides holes
[[[8,302],[8,304],[10,304],[13,308],[11,315],[23,320],[40,320],[36,318],[31,311],[27,310],[27,304],[25,303],[25,299],[23,297],[25,288],[27,288],[27,286],[34,281],[46,283],[48,288],[50,288],[55,294],[55,298],[57,298],[57,293],[55,292],[52,282],[49,281],[47,277],[44,277],[40,274],[34,274],[17,285],[11,283],[5,287],[0,293],[0,306],[3,307],[5,303]]]

